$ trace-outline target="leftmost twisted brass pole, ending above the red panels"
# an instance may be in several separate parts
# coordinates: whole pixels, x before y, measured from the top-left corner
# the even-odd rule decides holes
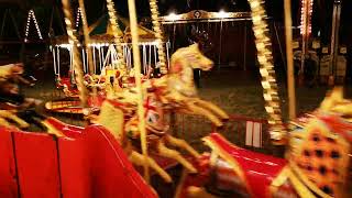
[[[75,69],[76,74],[76,82],[77,82],[77,88],[79,91],[79,99],[80,99],[80,105],[82,108],[87,107],[87,88],[84,84],[84,72],[82,72],[82,64],[80,59],[80,52],[77,47],[78,45],[78,40],[76,35],[74,34],[73,31],[73,14],[72,14],[72,8],[69,4],[69,0],[62,0],[63,2],[63,11],[65,14],[65,23],[66,23],[66,31],[68,35],[68,43],[73,46],[73,66]]]

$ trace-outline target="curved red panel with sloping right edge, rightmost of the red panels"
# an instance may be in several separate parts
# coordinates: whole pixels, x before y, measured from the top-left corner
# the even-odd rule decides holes
[[[156,197],[111,133],[101,127],[88,127],[84,134],[89,152],[92,197]]]

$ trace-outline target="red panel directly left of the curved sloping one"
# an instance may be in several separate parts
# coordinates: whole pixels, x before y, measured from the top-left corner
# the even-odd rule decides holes
[[[85,140],[59,139],[58,143],[63,197],[91,197],[89,153],[85,151]]]

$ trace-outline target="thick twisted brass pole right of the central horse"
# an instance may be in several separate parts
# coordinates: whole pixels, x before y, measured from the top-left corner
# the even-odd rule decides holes
[[[271,138],[280,141],[285,135],[285,128],[280,117],[280,105],[277,94],[277,84],[271,52],[271,40],[267,36],[268,26],[265,21],[266,13],[261,0],[249,0],[252,10],[253,32],[257,50],[257,61],[261,65],[262,87],[264,89],[265,110],[271,125]]]

